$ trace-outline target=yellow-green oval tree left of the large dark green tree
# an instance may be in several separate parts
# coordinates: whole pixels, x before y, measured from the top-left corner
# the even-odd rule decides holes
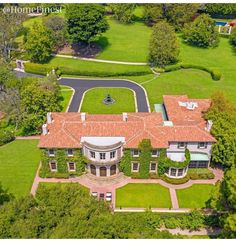
[[[53,43],[51,30],[35,22],[27,34],[25,49],[31,61],[43,63],[49,60]]]

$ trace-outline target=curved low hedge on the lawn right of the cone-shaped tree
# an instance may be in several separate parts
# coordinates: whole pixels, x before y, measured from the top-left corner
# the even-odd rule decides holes
[[[211,75],[212,79],[215,81],[220,80],[222,76],[222,74],[218,70],[207,68],[201,65],[185,64],[185,63],[179,63],[179,64],[167,66],[165,67],[165,72],[172,72],[180,69],[189,69],[189,68],[199,69],[208,72]]]

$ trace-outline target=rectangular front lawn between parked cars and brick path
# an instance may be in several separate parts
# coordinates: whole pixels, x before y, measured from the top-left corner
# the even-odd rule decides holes
[[[128,184],[116,190],[116,207],[170,208],[169,190],[159,184]]]

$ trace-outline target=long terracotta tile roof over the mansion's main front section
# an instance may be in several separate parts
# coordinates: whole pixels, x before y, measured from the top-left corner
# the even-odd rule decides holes
[[[168,148],[170,141],[215,141],[197,125],[163,126],[162,114],[158,112],[128,113],[127,121],[123,121],[122,114],[86,114],[84,122],[81,113],[52,113],[52,117],[49,133],[41,135],[41,148],[78,148],[83,136],[125,137],[127,148],[137,148],[144,138],[150,139],[154,148]]]

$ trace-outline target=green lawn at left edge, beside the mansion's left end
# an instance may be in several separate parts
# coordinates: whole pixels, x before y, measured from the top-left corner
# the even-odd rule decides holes
[[[0,181],[16,197],[29,194],[40,161],[38,140],[16,140],[0,147]]]

